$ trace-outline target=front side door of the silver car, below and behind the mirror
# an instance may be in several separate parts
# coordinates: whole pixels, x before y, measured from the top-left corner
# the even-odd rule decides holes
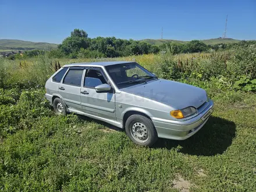
[[[81,105],[83,112],[106,119],[116,119],[115,93],[97,93],[96,86],[109,84],[104,72],[99,67],[88,67],[81,87]]]

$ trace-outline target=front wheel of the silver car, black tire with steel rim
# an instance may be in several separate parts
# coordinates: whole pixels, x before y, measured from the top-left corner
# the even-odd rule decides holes
[[[158,139],[153,122],[143,115],[131,115],[126,120],[125,131],[130,140],[137,145],[150,147]]]

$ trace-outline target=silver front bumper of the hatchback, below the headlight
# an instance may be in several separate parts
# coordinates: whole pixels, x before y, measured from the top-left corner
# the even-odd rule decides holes
[[[209,100],[207,108],[204,109],[199,115],[184,121],[167,120],[161,118],[152,118],[152,121],[157,130],[158,137],[169,138],[173,140],[185,140],[193,134],[197,133],[207,122],[207,119],[202,120],[202,116],[213,108],[214,102]]]

